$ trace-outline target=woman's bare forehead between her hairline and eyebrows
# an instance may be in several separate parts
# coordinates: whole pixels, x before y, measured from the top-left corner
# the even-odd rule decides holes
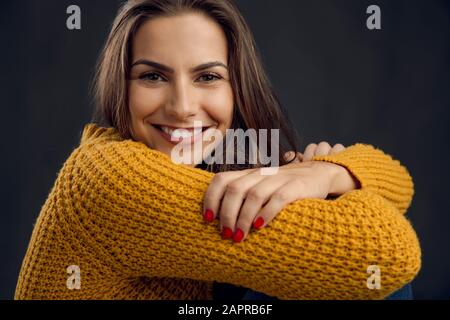
[[[158,17],[142,24],[133,39],[133,58],[160,62],[217,59],[227,61],[227,40],[221,26],[197,13]],[[197,61],[199,60],[199,61]]]

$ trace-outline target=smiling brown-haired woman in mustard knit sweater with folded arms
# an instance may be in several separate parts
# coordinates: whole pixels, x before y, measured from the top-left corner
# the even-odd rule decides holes
[[[42,207],[16,299],[210,299],[219,283],[281,299],[380,299],[418,273],[406,168],[361,143],[295,156],[232,1],[128,2],[95,84],[95,123]],[[203,138],[238,128],[280,130],[276,174],[247,150],[243,164],[206,161],[231,151]],[[192,161],[174,163],[194,140],[201,148],[183,149]],[[381,287],[368,270],[381,270]]]

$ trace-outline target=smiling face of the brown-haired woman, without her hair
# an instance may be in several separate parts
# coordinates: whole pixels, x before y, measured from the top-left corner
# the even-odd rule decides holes
[[[201,143],[192,156],[211,148],[214,142],[201,142],[205,130],[224,136],[231,126],[229,79],[226,36],[215,21],[190,13],[144,23],[133,39],[128,85],[133,138],[169,156],[179,142]],[[194,130],[196,121],[202,129]]]

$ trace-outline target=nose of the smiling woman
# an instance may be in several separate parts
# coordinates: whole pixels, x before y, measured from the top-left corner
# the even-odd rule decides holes
[[[183,80],[177,81],[173,88],[172,97],[166,106],[167,115],[177,120],[195,116],[198,106],[194,97],[194,88],[191,88],[188,81]]]

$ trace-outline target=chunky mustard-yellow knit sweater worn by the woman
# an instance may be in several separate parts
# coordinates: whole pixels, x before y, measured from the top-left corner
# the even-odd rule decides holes
[[[361,188],[296,201],[235,244],[202,218],[214,174],[87,124],[41,208],[15,299],[210,299],[213,281],[281,299],[381,299],[411,281],[421,251],[406,168],[361,143],[314,160],[345,166]],[[67,286],[71,265],[80,289]]]

